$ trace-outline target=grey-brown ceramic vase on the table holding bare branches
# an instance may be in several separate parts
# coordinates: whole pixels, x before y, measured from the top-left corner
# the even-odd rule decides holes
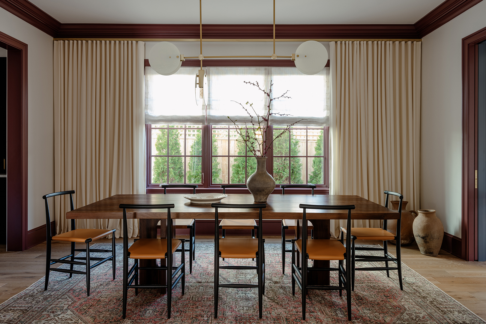
[[[267,157],[255,156],[257,171],[246,180],[246,188],[253,195],[256,203],[264,203],[275,189],[275,180],[267,172]]]

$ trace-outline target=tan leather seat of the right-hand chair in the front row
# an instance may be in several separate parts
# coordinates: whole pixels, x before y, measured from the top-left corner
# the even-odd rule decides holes
[[[302,253],[302,240],[297,239],[295,246]],[[308,239],[307,254],[312,260],[344,260],[346,248],[337,239]]]

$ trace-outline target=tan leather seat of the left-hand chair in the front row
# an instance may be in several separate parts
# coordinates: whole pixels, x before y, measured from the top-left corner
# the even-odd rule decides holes
[[[172,253],[181,245],[178,239],[172,239]],[[163,259],[167,252],[167,239],[139,239],[129,248],[131,259]]]

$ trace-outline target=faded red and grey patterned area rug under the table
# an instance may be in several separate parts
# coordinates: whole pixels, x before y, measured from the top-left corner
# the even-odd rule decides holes
[[[102,248],[105,244],[96,244]],[[109,245],[109,244],[106,244]],[[109,248],[109,247],[108,247]],[[127,318],[121,319],[122,246],[117,245],[118,270],[111,278],[111,263],[91,273],[91,295],[86,296],[85,276],[51,273],[49,289],[44,279],[0,305],[0,323],[300,323],[301,300],[296,288],[292,296],[290,265],[281,273],[280,246],[265,244],[266,288],[263,318],[258,318],[256,289],[220,289],[219,317],[213,318],[213,245],[198,244],[192,274],[186,276],[186,293],[180,285],[173,291],[172,318],[167,320],[166,297],[160,290],[128,292]],[[290,258],[290,256],[288,256]],[[235,262],[236,261],[236,262]],[[231,264],[251,260],[226,259]],[[289,262],[290,263],[290,262]],[[189,267],[187,267],[189,268]],[[257,282],[250,270],[220,270],[221,283]],[[331,280],[333,280],[331,278]],[[357,272],[352,293],[352,323],[356,324],[476,324],[486,323],[424,277],[403,266],[403,287],[396,272]],[[350,323],[347,321],[346,292],[311,290],[307,298],[307,323]]]

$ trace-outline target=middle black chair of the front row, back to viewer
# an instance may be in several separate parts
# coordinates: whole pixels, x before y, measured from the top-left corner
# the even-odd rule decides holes
[[[258,288],[258,307],[259,317],[262,316],[263,294],[265,293],[265,250],[264,240],[262,238],[262,208],[266,204],[211,204],[215,208],[214,211],[214,318],[218,318],[218,297],[219,288]],[[257,228],[258,239],[255,238],[221,238],[219,237],[218,216],[219,209],[257,209],[259,210],[258,220],[259,226]],[[225,210],[226,212],[226,210]],[[257,259],[257,266],[220,266],[219,258],[236,258],[236,259]],[[258,284],[240,284],[240,283],[219,283],[220,269],[255,269],[257,270]]]

